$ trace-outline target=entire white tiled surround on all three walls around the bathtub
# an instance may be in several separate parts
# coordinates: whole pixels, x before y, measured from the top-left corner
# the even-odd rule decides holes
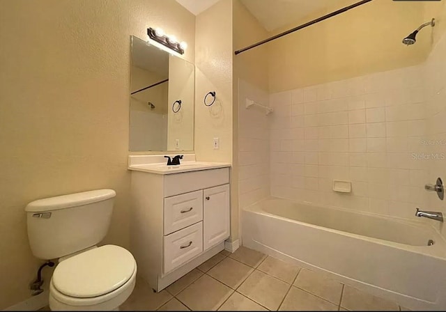
[[[443,36],[421,65],[269,98],[240,80],[240,208],[269,195],[410,219],[446,208],[424,190],[446,180],[445,55]],[[246,98],[274,112],[245,109]],[[332,180],[351,181],[351,194]]]

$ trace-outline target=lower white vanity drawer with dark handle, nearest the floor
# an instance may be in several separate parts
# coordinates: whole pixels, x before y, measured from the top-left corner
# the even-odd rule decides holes
[[[203,222],[164,236],[164,273],[174,270],[203,251]]]

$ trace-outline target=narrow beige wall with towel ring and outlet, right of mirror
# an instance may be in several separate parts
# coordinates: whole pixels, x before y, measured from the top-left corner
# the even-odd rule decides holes
[[[232,0],[221,0],[197,15],[195,27],[195,153],[197,160],[232,162]],[[215,91],[217,99],[206,107],[203,98],[209,91]],[[213,149],[216,137],[220,139],[220,150]],[[237,233],[238,214],[232,205],[231,239],[238,237]]]

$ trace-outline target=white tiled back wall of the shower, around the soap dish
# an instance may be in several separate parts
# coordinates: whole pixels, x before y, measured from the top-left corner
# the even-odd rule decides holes
[[[271,195],[399,217],[424,207],[422,70],[271,94]],[[351,181],[351,194],[333,192],[332,180]]]

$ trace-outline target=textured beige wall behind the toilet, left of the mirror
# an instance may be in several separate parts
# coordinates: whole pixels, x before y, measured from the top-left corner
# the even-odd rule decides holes
[[[26,237],[30,201],[115,189],[105,242],[128,246],[130,35],[148,26],[185,40],[194,61],[195,17],[174,0],[0,1],[0,309],[29,297],[43,263]]]

